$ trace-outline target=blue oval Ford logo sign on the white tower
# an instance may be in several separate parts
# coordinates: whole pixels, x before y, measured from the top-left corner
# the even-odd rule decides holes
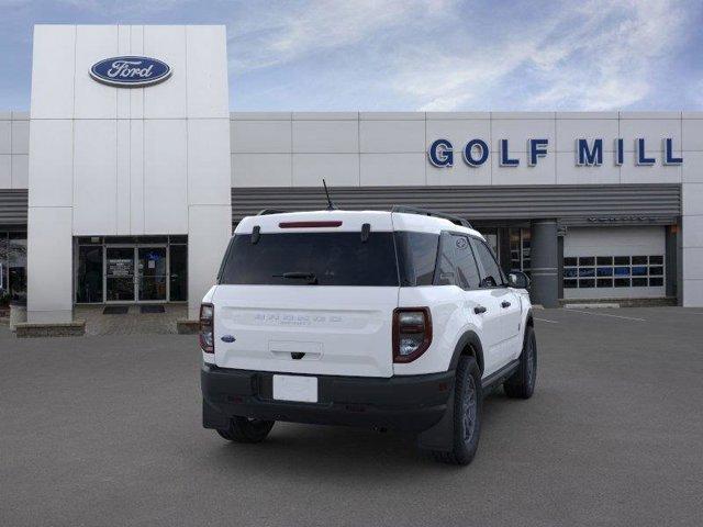
[[[149,57],[112,57],[96,63],[90,76],[103,85],[121,88],[143,88],[168,79],[168,64]]]

